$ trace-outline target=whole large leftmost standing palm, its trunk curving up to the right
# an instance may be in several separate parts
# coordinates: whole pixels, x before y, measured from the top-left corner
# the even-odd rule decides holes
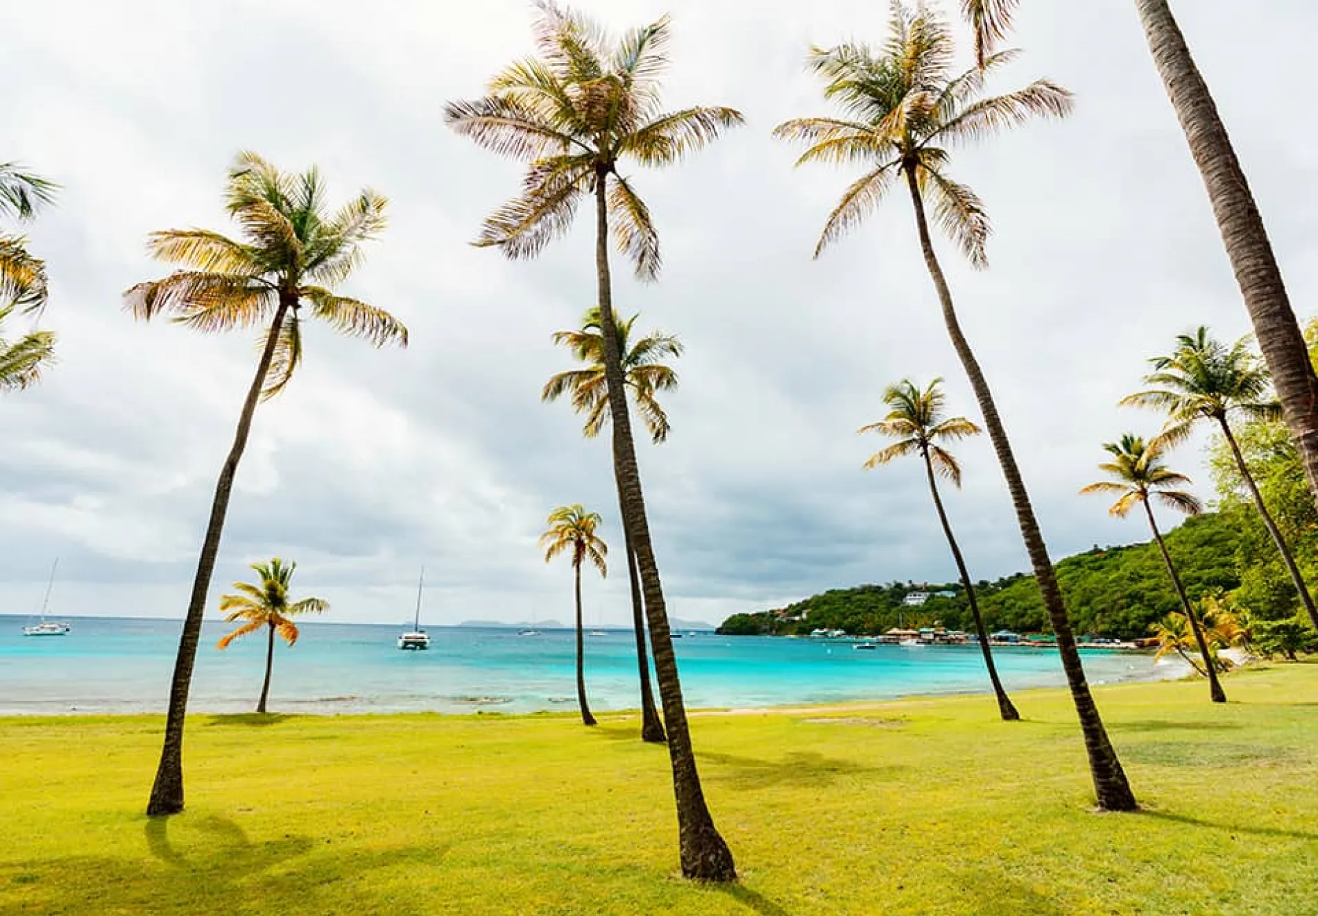
[[[229,492],[257,402],[282,391],[302,362],[303,315],[376,347],[407,344],[407,328],[393,315],[332,291],[360,264],[362,243],[384,229],[385,198],[366,190],[330,211],[316,169],[285,174],[256,153],[240,153],[229,169],[225,203],[243,229],[243,241],[208,229],[154,232],[148,250],[183,269],[124,294],[128,308],[142,320],[169,315],[202,332],[264,328],[256,376],[220,469],[202,540],[148,815],[183,809],[183,718]]]

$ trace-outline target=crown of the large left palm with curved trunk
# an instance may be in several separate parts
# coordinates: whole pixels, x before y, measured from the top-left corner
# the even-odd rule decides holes
[[[376,347],[407,345],[397,318],[358,299],[336,295],[361,264],[362,243],[385,228],[384,196],[370,190],[330,212],[315,167],[281,173],[256,153],[240,153],[229,170],[225,203],[245,241],[207,229],[154,232],[148,248],[162,261],[186,265],[169,277],[129,289],[133,314],[173,320],[204,332],[253,327],[279,318],[277,345],[262,397],[278,394],[302,361],[301,310],[336,331]]]

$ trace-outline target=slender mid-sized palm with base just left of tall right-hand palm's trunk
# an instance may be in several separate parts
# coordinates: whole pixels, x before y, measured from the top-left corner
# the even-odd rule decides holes
[[[859,432],[879,432],[898,442],[875,452],[865,463],[865,467],[876,468],[907,455],[919,455],[924,460],[925,476],[929,478],[929,493],[933,496],[933,507],[938,513],[942,534],[948,538],[948,547],[952,548],[952,559],[957,563],[961,585],[966,589],[970,614],[975,618],[975,633],[979,634],[979,648],[985,656],[985,667],[988,668],[988,680],[992,683],[994,696],[998,697],[998,712],[1002,713],[1004,722],[1015,722],[1020,718],[1020,713],[1016,712],[1016,706],[1012,705],[1011,697],[1007,696],[1007,691],[998,677],[998,667],[992,663],[992,651],[988,648],[988,630],[985,627],[985,618],[979,613],[979,602],[975,600],[975,587],[970,579],[970,571],[966,569],[961,547],[952,534],[952,523],[948,522],[948,513],[942,507],[942,497],[938,496],[938,476],[946,477],[953,486],[961,486],[961,464],[941,443],[977,436],[982,430],[965,416],[944,416],[941,384],[941,378],[934,378],[921,391],[913,382],[904,378],[896,385],[888,386],[883,393],[883,403],[891,405],[892,410],[878,423],[861,427]]]

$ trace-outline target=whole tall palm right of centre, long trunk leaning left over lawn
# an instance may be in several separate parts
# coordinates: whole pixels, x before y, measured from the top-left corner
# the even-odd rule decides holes
[[[1064,88],[1039,80],[1008,95],[985,98],[985,74],[996,70],[1014,54],[994,54],[986,58],[982,69],[960,75],[952,69],[953,55],[948,24],[937,12],[924,5],[912,12],[894,0],[891,33],[879,54],[854,43],[815,49],[811,54],[812,70],[826,80],[825,98],[837,100],[845,116],[787,121],[779,125],[775,134],[811,144],[799,165],[822,161],[865,162],[871,166],[846,190],[829,215],[815,250],[816,257],[829,243],[858,225],[884,192],[904,179],[948,335],[970,378],[994,452],[1007,478],[1044,608],[1057,635],[1066,683],[1085,734],[1098,804],[1107,811],[1133,811],[1135,795],[1085,679],[1048,547],[988,382],[957,319],[952,290],[933,250],[925,210],[928,200],[938,227],[961,246],[973,265],[985,266],[988,216],[974,191],[948,175],[950,156],[946,146],[988,136],[1031,117],[1060,117],[1070,111],[1072,96]]]

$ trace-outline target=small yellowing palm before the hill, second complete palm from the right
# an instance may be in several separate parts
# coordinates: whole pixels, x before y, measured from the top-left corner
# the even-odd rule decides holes
[[[1199,646],[1199,655],[1203,658],[1203,668],[1207,672],[1209,692],[1213,702],[1226,702],[1227,695],[1218,681],[1217,667],[1213,663],[1209,643],[1203,638],[1203,627],[1199,626],[1199,618],[1194,613],[1194,606],[1185,594],[1185,585],[1181,584],[1181,576],[1176,572],[1176,564],[1172,563],[1172,555],[1168,552],[1166,543],[1162,540],[1162,532],[1159,531],[1157,521],[1153,518],[1153,497],[1157,497],[1162,505],[1182,511],[1186,515],[1198,515],[1203,511],[1203,506],[1194,494],[1177,489],[1189,484],[1190,478],[1168,469],[1162,464],[1162,452],[1166,449],[1165,439],[1153,439],[1145,443],[1139,436],[1127,434],[1122,436],[1120,442],[1107,443],[1103,448],[1112,455],[1112,460],[1104,461],[1098,468],[1114,480],[1102,480],[1097,484],[1090,484],[1082,488],[1081,493],[1115,494],[1118,497],[1116,502],[1107,511],[1118,518],[1126,518],[1135,506],[1144,507],[1144,515],[1149,521],[1153,540],[1157,542],[1157,548],[1162,552],[1166,575],[1172,577],[1176,594],[1181,598],[1181,609],[1185,613],[1185,618],[1190,622],[1190,629],[1194,631],[1194,641]]]

